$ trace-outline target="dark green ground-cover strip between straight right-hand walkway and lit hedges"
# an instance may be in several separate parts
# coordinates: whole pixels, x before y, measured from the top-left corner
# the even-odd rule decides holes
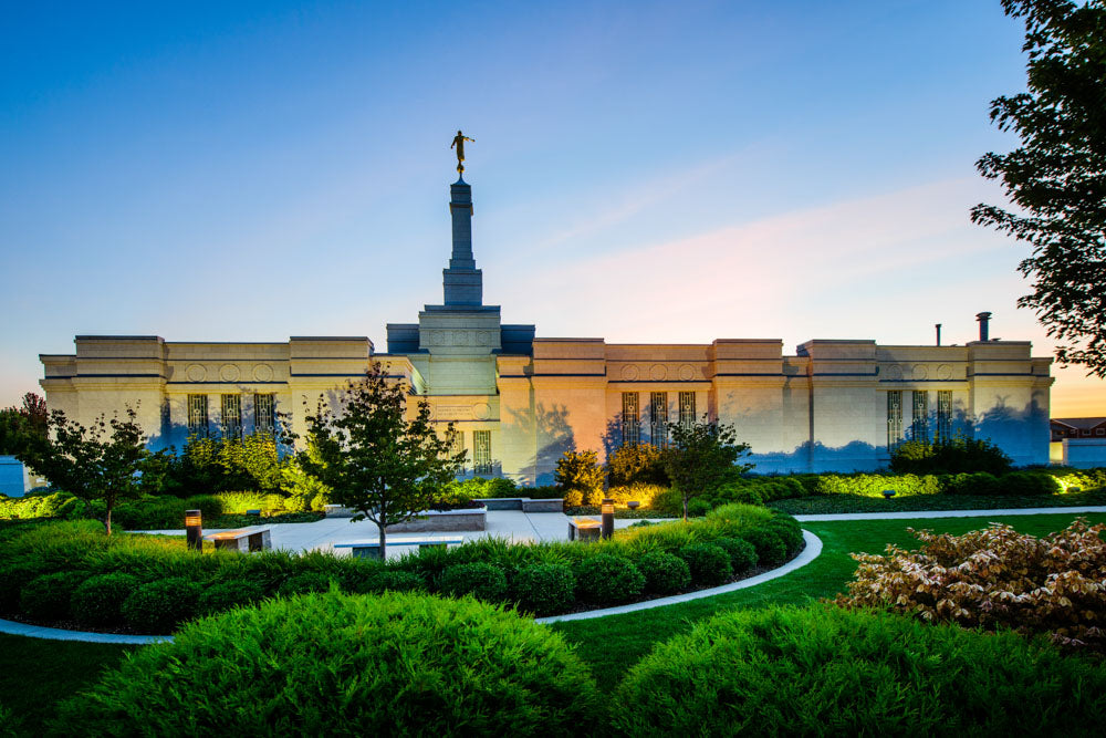
[[[770,508],[799,514],[830,514],[834,512],[914,512],[927,510],[994,510],[999,508],[1067,508],[1106,505],[1106,488],[1086,492],[1066,492],[1035,497],[995,497],[972,495],[909,495],[893,497],[865,497],[862,495],[820,495],[775,500]]]

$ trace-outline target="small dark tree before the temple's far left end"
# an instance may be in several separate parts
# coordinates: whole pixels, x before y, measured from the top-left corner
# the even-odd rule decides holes
[[[103,500],[103,523],[111,536],[112,510],[118,500],[138,496],[143,462],[150,456],[137,415],[127,406],[124,418],[102,414],[85,427],[54,410],[50,436],[30,438],[19,458],[54,487],[84,500]]]

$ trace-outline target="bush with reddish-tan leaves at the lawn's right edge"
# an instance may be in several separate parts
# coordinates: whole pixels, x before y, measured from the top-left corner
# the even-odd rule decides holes
[[[852,554],[860,565],[838,605],[1047,633],[1063,648],[1106,654],[1106,524],[1081,518],[1040,539],[998,523],[963,536],[909,530],[921,549]]]

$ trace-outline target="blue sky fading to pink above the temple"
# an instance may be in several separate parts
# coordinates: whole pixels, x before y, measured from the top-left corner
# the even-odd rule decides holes
[[[998,0],[7,3],[0,405],[84,333],[368,335],[440,301],[457,128],[539,335],[1051,344],[971,226]],[[1060,414],[1106,414],[1057,371]],[[1066,403],[1066,405],[1064,404]],[[1086,409],[1086,412],[1084,412]]]

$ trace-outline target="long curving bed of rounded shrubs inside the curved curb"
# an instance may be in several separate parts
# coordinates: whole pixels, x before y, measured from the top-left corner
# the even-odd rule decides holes
[[[472,595],[547,615],[717,585],[802,545],[793,518],[740,505],[598,543],[480,539],[387,563],[321,552],[196,554],[179,538],[106,537],[90,521],[58,522],[0,531],[0,611],[165,633],[195,615],[334,585]]]

